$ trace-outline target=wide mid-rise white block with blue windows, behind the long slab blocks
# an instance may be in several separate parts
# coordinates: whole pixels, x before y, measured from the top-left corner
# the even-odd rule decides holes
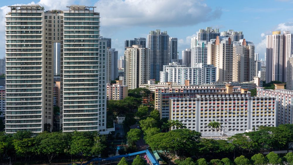
[[[216,67],[213,65],[198,64],[198,67],[185,67],[184,65],[173,64],[164,65],[160,72],[160,82],[174,82],[185,84],[189,80],[190,85],[210,84],[215,82]]]

